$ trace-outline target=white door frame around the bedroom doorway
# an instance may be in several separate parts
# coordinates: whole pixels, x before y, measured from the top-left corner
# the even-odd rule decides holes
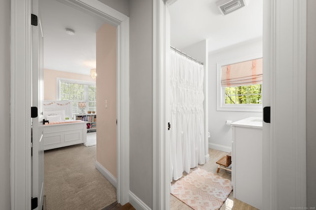
[[[117,27],[117,200],[129,201],[129,17],[97,0],[69,0]],[[11,209],[31,209],[32,0],[11,0]]]

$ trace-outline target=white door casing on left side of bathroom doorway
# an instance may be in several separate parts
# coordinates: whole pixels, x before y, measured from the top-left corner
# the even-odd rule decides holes
[[[153,210],[169,210],[170,182],[165,141],[166,5],[153,0]]]

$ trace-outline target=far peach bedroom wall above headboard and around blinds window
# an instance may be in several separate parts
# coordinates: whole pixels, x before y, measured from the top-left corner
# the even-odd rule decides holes
[[[55,101],[56,99],[56,78],[77,79],[89,82],[95,82],[90,75],[71,73],[59,70],[44,69],[44,100]]]

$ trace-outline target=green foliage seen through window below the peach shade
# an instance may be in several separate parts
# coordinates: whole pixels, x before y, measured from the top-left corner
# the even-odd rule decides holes
[[[261,104],[262,84],[225,87],[225,104]]]

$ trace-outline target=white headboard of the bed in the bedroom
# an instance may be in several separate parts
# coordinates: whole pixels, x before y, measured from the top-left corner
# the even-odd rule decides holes
[[[47,118],[47,114],[56,112],[58,115],[62,115],[62,120],[68,117],[73,118],[72,102],[71,101],[44,101],[44,119]]]

